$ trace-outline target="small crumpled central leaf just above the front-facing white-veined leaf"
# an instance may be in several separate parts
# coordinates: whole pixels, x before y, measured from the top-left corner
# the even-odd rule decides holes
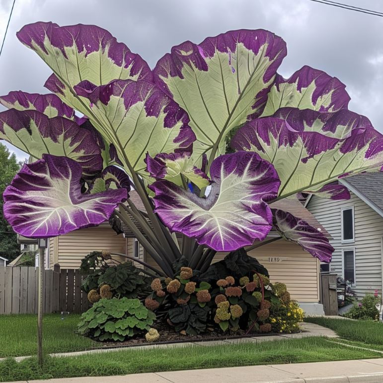
[[[178,186],[189,180],[199,189],[210,183],[208,176],[193,165],[190,152],[159,153],[154,158],[147,154],[145,162],[150,176],[156,180],[168,180]]]

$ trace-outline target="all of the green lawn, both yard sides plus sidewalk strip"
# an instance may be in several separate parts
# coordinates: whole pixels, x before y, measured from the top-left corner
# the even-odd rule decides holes
[[[45,315],[46,354],[100,346],[75,333],[78,319],[78,315],[70,315],[64,320],[57,314]],[[36,354],[36,320],[35,315],[0,316],[0,357]],[[326,318],[309,318],[307,321],[334,329],[347,339],[339,340],[341,342],[383,350],[382,323]],[[78,357],[46,357],[42,369],[36,358],[20,363],[7,359],[0,362],[0,382],[382,357],[381,353],[346,347],[339,341],[309,337],[225,346],[132,348]]]

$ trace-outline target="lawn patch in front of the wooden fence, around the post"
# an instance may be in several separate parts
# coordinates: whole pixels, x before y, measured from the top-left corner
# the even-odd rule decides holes
[[[43,346],[47,354],[80,351],[97,343],[75,334],[79,315],[61,320],[58,314],[43,317]],[[0,315],[0,358],[36,355],[37,315]]]

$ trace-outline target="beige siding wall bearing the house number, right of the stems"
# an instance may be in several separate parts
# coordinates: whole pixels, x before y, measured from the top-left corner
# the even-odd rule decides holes
[[[302,303],[319,301],[319,262],[300,246],[280,240],[254,249],[249,255],[267,268],[271,282],[286,283],[292,299]],[[224,253],[217,254],[214,262],[224,256]],[[282,257],[282,261],[269,262],[269,257]],[[146,256],[146,261],[158,267],[150,255]]]

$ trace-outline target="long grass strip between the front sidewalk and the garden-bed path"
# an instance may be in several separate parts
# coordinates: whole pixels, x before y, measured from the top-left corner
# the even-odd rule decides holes
[[[130,349],[104,354],[47,358],[40,369],[36,358],[0,362],[0,381],[125,375],[145,372],[205,369],[279,363],[325,362],[377,358],[382,354],[329,343],[322,337],[273,342]]]

